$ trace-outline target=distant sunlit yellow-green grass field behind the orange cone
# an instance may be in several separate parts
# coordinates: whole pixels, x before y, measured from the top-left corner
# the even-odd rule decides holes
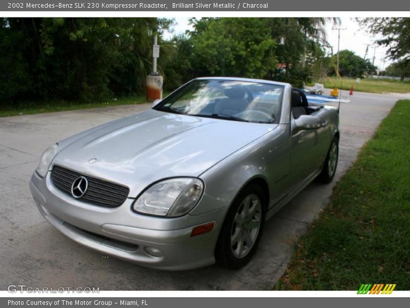
[[[341,88],[350,90],[353,85],[354,91],[370,93],[410,93],[410,82],[389,80],[389,79],[361,79],[360,84],[356,83],[356,78],[343,78],[343,86],[337,78],[326,78],[317,83],[324,84],[325,88]]]

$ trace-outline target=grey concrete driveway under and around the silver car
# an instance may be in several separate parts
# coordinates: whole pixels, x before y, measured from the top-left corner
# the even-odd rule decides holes
[[[162,272],[104,258],[60,234],[38,213],[28,182],[45,148],[81,130],[141,112],[149,105],[0,118],[0,290],[9,284],[94,286],[100,290],[270,290],[286,268],[294,242],[328,202],[335,182],[395,102],[404,98],[359,92],[347,97],[351,102],[342,104],[340,110],[335,181],[329,185],[312,183],[268,221],[253,260],[239,271],[214,265]]]

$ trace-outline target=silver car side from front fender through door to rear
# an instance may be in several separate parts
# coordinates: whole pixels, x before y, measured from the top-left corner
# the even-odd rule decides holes
[[[207,207],[197,206],[190,215],[200,215],[206,210],[226,207],[233,202],[241,188],[255,178],[263,179],[269,187],[268,208],[272,210],[276,205],[282,206],[283,204],[279,204],[281,200],[292,195],[294,191],[299,191],[300,187],[306,186],[315,178],[334,134],[339,131],[338,114],[334,107],[325,106],[316,115],[323,122],[328,122],[318,131],[301,131],[301,136],[292,141],[291,129],[295,129],[294,123],[279,124],[272,132],[204,172],[200,178],[207,184],[202,202],[207,204]],[[308,141],[301,147],[296,146],[292,152],[292,146],[295,147],[303,138]],[[292,145],[292,142],[295,144]],[[294,160],[300,161],[293,171],[292,156]],[[303,166],[304,169],[298,166]]]

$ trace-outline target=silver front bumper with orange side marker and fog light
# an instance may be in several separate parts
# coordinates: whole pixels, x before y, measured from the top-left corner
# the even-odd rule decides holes
[[[40,213],[54,227],[104,255],[167,270],[215,263],[214,249],[226,208],[169,219],[134,213],[134,199],[115,208],[90,205],[57,190],[50,172],[44,179],[34,172],[30,190]],[[194,226],[211,221],[215,222],[211,232],[191,237]],[[146,247],[159,249],[162,256],[151,256]]]

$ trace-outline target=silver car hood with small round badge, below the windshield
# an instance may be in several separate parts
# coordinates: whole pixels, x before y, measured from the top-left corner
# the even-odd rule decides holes
[[[276,127],[150,109],[62,141],[53,165],[126,185],[136,197],[160,179],[198,177]]]

